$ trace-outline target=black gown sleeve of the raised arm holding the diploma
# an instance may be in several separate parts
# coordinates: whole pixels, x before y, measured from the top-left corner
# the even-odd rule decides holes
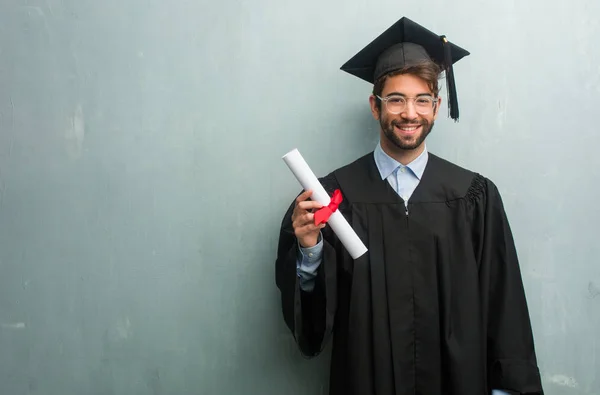
[[[319,179],[327,193],[337,187],[332,175]],[[319,355],[331,334],[337,310],[337,255],[335,234],[322,229],[323,255],[312,292],[300,288],[297,274],[298,242],[292,227],[292,203],[285,213],[279,232],[275,280],[281,295],[284,321],[306,357]],[[342,208],[340,207],[340,210]]]

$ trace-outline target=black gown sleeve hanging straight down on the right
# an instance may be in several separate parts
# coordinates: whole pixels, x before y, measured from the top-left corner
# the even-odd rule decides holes
[[[500,193],[477,176],[473,226],[487,331],[490,388],[542,395],[543,388],[519,260]]]

